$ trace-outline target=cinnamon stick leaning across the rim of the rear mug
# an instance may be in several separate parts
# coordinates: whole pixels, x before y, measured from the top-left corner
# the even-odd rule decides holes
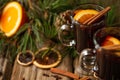
[[[94,15],[93,17],[86,20],[83,24],[90,25],[90,24],[94,23],[96,20],[98,20],[100,17],[102,17],[105,13],[107,13],[110,9],[111,8],[109,6],[106,7],[105,9],[100,11],[97,15]]]

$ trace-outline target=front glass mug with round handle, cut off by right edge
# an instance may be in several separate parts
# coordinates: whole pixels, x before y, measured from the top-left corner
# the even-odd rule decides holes
[[[89,70],[91,74],[95,73],[94,76],[99,80],[120,80],[118,76],[120,69],[114,67],[114,65],[120,67],[120,44],[102,46],[107,36],[120,40],[120,27],[105,27],[96,31],[93,36],[95,48],[81,51],[80,66],[86,71]],[[89,61],[86,61],[87,59]],[[117,68],[118,72],[114,71],[114,68]]]

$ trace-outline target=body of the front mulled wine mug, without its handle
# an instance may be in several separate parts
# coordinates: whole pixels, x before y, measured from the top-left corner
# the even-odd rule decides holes
[[[103,80],[120,80],[120,27],[98,30],[93,40],[97,49],[96,76]]]

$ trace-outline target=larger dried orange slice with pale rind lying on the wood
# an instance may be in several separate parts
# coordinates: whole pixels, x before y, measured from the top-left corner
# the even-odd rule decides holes
[[[48,51],[48,49],[48,47],[43,47],[35,53],[36,57],[33,62],[35,66],[43,69],[49,69],[56,67],[61,62],[62,56],[60,52],[53,48],[51,49],[52,53],[49,53],[49,56],[47,55],[45,58],[41,59],[40,54],[44,53],[43,51]]]

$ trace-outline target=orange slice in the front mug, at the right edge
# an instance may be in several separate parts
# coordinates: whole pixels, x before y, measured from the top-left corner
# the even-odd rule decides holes
[[[109,45],[119,45],[120,44],[120,40],[112,37],[112,36],[107,36],[105,38],[105,40],[102,43],[102,46],[109,46]]]

